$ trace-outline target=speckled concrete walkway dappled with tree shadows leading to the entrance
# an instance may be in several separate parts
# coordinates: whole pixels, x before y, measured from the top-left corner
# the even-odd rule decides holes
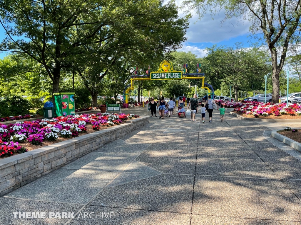
[[[222,123],[217,112],[212,123],[196,119],[150,118],[143,129],[1,197],[0,224],[299,225],[301,154],[259,123],[230,115]],[[13,212],[46,218],[14,219]],[[75,218],[49,219],[49,212]]]

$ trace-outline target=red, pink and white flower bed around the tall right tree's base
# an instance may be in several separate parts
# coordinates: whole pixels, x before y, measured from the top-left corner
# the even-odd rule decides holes
[[[301,104],[250,102],[234,108],[235,113],[250,118],[301,119]],[[298,118],[296,118],[298,116]],[[300,117],[299,117],[300,116]]]

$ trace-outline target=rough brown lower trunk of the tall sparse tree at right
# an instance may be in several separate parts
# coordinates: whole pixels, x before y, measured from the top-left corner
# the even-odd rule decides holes
[[[272,56],[272,84],[273,84],[273,91],[272,91],[272,102],[271,104],[279,103],[279,67],[277,64],[277,50],[276,48],[270,49],[271,56]]]

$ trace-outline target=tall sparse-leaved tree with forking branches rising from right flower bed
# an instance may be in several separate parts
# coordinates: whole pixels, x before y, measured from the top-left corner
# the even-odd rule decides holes
[[[182,7],[187,7],[187,11],[195,10],[199,19],[207,10],[213,15],[221,9],[225,10],[223,21],[233,17],[248,19],[252,34],[262,36],[263,43],[271,53],[272,103],[278,103],[280,71],[284,66],[289,45],[299,41],[301,1],[185,0],[182,2]]]

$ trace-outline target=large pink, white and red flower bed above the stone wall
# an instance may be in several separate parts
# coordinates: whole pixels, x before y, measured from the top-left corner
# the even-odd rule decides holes
[[[92,113],[9,125],[0,123],[0,158],[99,131],[138,117],[124,113]]]

